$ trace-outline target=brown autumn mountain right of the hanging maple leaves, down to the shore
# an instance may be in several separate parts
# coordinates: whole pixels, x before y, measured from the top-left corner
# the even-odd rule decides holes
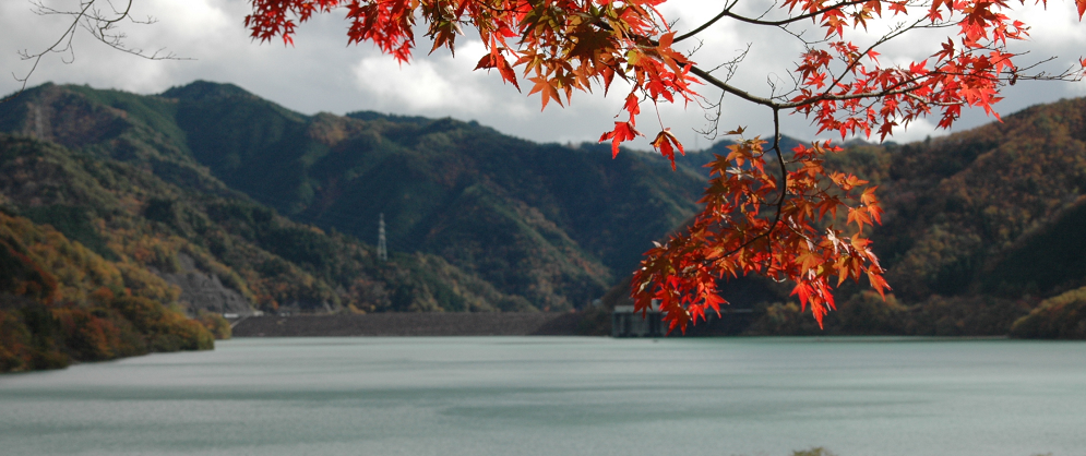
[[[886,213],[871,239],[895,295],[883,305],[862,287],[845,288],[831,333],[1004,335],[1031,310],[1049,309],[1030,319],[1051,320],[1072,309],[1065,304],[1077,301],[1066,297],[1086,290],[1086,99],[1034,106],[941,139],[852,144],[827,161],[879,185]],[[1042,302],[1061,293],[1059,305]],[[785,315],[799,311],[787,307],[763,309],[755,329],[819,332]],[[849,312],[867,316],[852,315],[847,329]],[[1035,329],[1017,334],[1045,333]]]

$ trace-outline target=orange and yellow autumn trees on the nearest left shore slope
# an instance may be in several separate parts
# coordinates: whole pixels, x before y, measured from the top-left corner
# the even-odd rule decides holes
[[[0,372],[211,349],[204,325],[154,299],[166,284],[131,267],[0,211]]]

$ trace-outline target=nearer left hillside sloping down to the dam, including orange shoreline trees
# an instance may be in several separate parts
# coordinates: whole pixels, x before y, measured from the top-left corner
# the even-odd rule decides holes
[[[194,193],[139,166],[0,133],[0,372],[210,348],[212,335],[182,312],[313,305],[534,309],[440,257],[380,262],[371,247],[243,195]]]

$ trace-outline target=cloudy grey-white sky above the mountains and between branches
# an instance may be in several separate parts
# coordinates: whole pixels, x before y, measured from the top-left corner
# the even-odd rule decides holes
[[[58,9],[79,4],[79,0],[45,1]],[[719,3],[671,0],[664,13],[677,19],[676,28],[683,31],[699,24],[699,19],[711,15]],[[753,12],[768,4],[750,1],[745,11]],[[242,25],[249,11],[246,0],[138,1],[133,14],[154,16],[157,23],[124,25],[121,32],[128,35],[127,44],[148,50],[166,48],[192,60],[140,59],[109,49],[81,32],[74,40],[74,55],[46,57],[29,84],[88,84],[154,94],[194,80],[206,80],[237,84],[303,113],[374,110],[453,117],[477,120],[524,139],[562,143],[598,139],[601,132],[610,129],[624,95],[614,87],[607,98],[598,93],[574,94],[571,106],[562,109],[552,104],[540,112],[538,96],[517,93],[512,86],[502,84],[497,74],[472,71],[484,51],[470,34],[458,43],[455,59],[441,50],[426,56],[425,49],[429,49],[429,45],[420,43],[423,52],[419,52],[410,65],[399,67],[369,44],[346,46],[346,23],[341,14],[323,15],[307,23],[300,27],[296,45],[285,47],[282,43],[259,45],[251,41]],[[1086,24],[1076,19],[1072,1],[1055,0],[1049,2],[1047,11],[1030,7],[1016,14],[1033,26],[1030,40],[1016,47],[1018,51],[1030,52],[1019,64],[1057,57],[1045,69],[1059,72],[1086,55]],[[63,17],[35,15],[28,1],[3,0],[0,4],[0,68],[5,71],[0,75],[0,92],[16,91],[20,83],[14,76],[23,76],[31,69],[28,62],[20,60],[17,51],[44,49],[60,37],[67,26]],[[875,23],[869,31],[875,34],[887,26],[888,23]],[[793,38],[780,32],[767,33],[735,25],[712,28],[703,38],[694,55],[694,60],[702,67],[727,61],[751,45],[748,58],[732,81],[760,95],[769,93],[767,80],[788,77],[788,71],[801,51]],[[942,36],[911,36],[882,49],[882,58],[895,62],[922,59],[945,39],[945,32]],[[73,56],[74,61],[69,63]],[[717,96],[708,89],[703,92],[709,98]],[[1037,103],[1086,96],[1086,82],[1019,83],[1007,87],[1004,95],[1006,99],[998,108],[1002,113],[1010,113]],[[694,133],[695,129],[706,127],[704,111],[699,106],[665,106],[660,115],[665,124],[671,127],[688,147],[707,145],[707,140]],[[768,131],[768,116],[764,108],[731,98],[725,101],[721,123],[729,129],[745,125],[762,133]],[[645,116],[640,124],[654,121]],[[968,112],[956,128],[966,129],[989,121],[991,119],[983,112],[974,111]],[[784,123],[786,134],[814,137],[815,129],[802,117],[790,116]],[[916,123],[908,131],[896,132],[894,140],[903,142],[945,134],[934,130],[932,123]],[[644,130],[651,130],[651,127]],[[644,142],[639,145],[647,148]]]

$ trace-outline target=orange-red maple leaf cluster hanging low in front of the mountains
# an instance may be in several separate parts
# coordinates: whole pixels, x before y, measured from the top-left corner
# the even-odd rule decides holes
[[[776,175],[766,169],[765,144],[755,137],[716,155],[707,165],[705,209],[687,230],[649,250],[634,273],[635,309],[646,311],[656,301],[669,331],[685,331],[707,311],[719,314],[727,303],[717,289],[723,277],[760,274],[795,283],[792,295],[811,307],[820,326],[835,309],[832,287],[863,276],[880,295],[890,288],[863,237],[863,227],[882,218],[875,188],[827,171],[822,157],[840,151],[828,142],[797,146],[787,161],[774,144],[771,158],[779,167],[768,166],[781,171]],[[851,235],[834,227],[842,208],[846,227],[855,227]]]

